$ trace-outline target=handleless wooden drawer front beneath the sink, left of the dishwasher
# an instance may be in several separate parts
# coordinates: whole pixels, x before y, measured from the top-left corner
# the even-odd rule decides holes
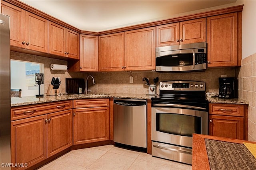
[[[109,99],[80,99],[73,101],[74,108],[109,106]]]

